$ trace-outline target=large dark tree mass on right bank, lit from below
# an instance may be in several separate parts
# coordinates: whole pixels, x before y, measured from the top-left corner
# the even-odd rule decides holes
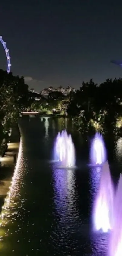
[[[73,94],[67,112],[82,132],[121,132],[122,78],[107,79],[99,86],[92,80],[83,82]]]

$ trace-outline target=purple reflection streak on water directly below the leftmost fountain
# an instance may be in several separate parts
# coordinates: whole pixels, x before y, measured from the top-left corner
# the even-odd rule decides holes
[[[72,169],[55,169],[54,201],[56,211],[60,216],[60,221],[63,226],[66,225],[66,222],[75,222],[75,218],[79,216],[77,197],[77,190],[75,189],[75,171]]]

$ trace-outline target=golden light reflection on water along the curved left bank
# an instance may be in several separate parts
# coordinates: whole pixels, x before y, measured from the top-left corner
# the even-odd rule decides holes
[[[22,139],[20,139],[20,146],[18,152],[18,158],[14,170],[14,175],[12,177],[11,186],[9,187],[9,191],[7,193],[7,197],[5,198],[5,203],[2,206],[2,212],[0,215],[0,241],[3,240],[4,236],[7,236],[7,229],[8,222],[12,222],[15,219],[15,214],[17,215],[16,205],[18,202],[14,200],[18,198],[20,195],[20,187],[21,187],[21,175],[22,172],[20,168],[22,167]]]

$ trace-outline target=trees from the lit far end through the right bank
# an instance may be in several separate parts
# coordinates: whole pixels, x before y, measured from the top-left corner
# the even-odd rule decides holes
[[[99,86],[91,79],[68,96],[52,92],[48,99],[33,103],[32,108],[46,114],[67,114],[81,132],[121,134],[122,78],[107,79]]]

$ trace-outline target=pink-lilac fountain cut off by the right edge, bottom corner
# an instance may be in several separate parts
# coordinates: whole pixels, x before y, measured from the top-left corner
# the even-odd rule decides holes
[[[110,236],[110,256],[122,255],[122,175],[118,183],[114,204],[114,227]]]

